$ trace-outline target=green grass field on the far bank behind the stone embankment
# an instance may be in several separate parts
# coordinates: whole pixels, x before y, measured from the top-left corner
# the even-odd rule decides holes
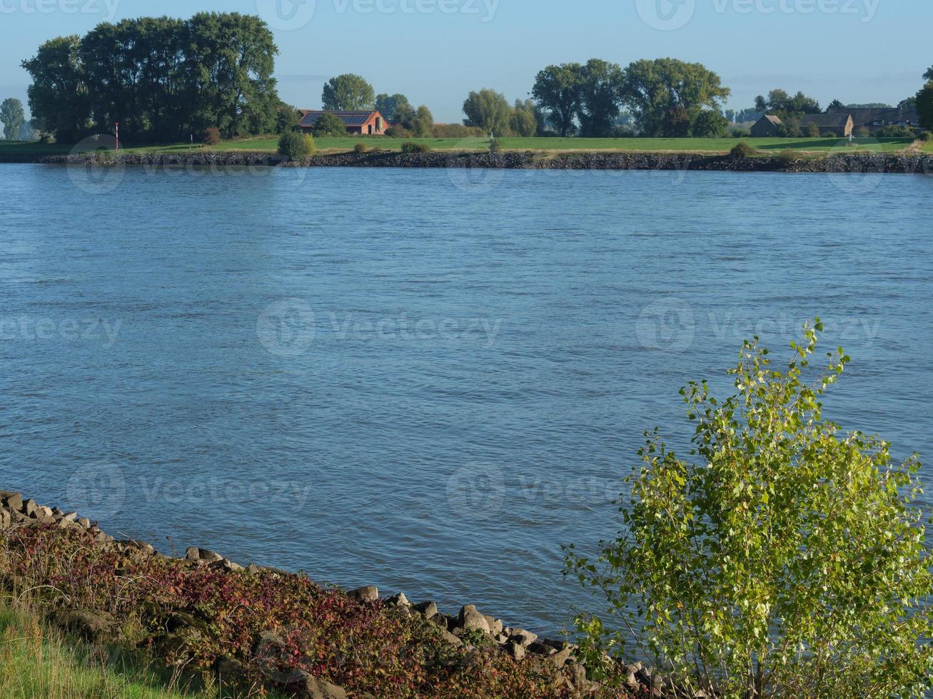
[[[489,141],[483,138],[469,139],[412,139],[415,142],[431,146],[441,151],[484,151],[489,147]],[[759,150],[762,156],[774,155],[783,150],[795,150],[801,153],[829,154],[851,153],[856,151],[873,153],[899,153],[915,149],[914,141],[909,138],[871,139],[859,138],[853,143],[836,138],[503,138],[500,139],[505,150],[534,150],[546,152],[565,151],[638,151],[656,153],[728,153],[732,146],[745,141]],[[355,144],[365,143],[369,147],[379,147],[383,150],[400,150],[403,143],[401,139],[380,136],[347,136],[342,138],[319,138],[315,140],[317,148],[322,153],[339,153],[353,150]],[[216,146],[209,146],[210,150],[252,150],[275,152],[278,139],[275,137],[259,137],[226,141]],[[196,144],[195,150],[207,146]],[[72,146],[67,144],[38,144],[23,142],[0,141],[0,158],[4,154],[21,156],[51,156],[71,152]],[[130,146],[123,148],[127,153],[187,153],[191,150],[190,144],[162,144],[146,146]],[[923,144],[922,152],[933,153],[933,143]]]

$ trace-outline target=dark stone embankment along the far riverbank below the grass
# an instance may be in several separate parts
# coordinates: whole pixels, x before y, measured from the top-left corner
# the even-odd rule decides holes
[[[261,152],[199,152],[189,154],[80,153],[35,158],[12,156],[8,161],[50,165],[101,164],[152,167],[355,167],[355,168],[487,168],[498,170],[655,170],[736,172],[860,172],[933,174],[933,156],[833,153],[826,158],[775,157],[733,158],[728,155],[689,153],[639,153],[618,151],[506,151],[501,153],[432,151],[399,153],[371,150],[338,153],[289,161]]]

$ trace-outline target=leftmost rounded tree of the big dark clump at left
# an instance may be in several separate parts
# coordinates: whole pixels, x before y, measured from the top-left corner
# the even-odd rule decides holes
[[[84,65],[78,55],[80,37],[60,36],[21,63],[33,78],[29,110],[39,130],[74,143],[91,132],[91,99]]]

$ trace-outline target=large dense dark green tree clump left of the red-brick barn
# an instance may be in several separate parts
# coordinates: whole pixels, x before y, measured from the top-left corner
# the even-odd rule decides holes
[[[39,130],[74,142],[119,122],[130,140],[225,137],[281,130],[295,111],[272,77],[278,53],[258,17],[202,12],[102,23],[83,38],[51,39],[22,62]]]

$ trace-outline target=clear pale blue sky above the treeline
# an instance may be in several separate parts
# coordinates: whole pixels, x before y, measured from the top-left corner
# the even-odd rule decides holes
[[[320,107],[328,77],[356,73],[442,122],[463,118],[470,90],[524,99],[545,66],[590,58],[702,62],[737,110],[774,88],[897,104],[933,65],[930,0],[0,0],[0,100],[26,102],[20,62],[53,36],[198,11],[270,24],[287,103]]]

